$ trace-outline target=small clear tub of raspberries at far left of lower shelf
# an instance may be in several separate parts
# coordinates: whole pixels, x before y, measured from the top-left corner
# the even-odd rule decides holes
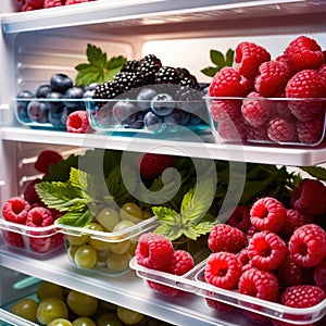
[[[45,258],[64,247],[64,236],[54,225],[33,227],[0,218],[0,230],[4,243],[22,254]]]

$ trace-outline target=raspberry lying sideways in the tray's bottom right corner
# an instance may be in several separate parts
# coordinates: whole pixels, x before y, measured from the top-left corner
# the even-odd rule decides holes
[[[319,287],[299,285],[286,288],[280,296],[280,303],[291,308],[309,308],[316,305],[325,298],[325,292]]]

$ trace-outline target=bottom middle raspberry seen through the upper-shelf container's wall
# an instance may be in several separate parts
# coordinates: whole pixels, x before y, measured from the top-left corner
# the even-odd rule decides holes
[[[296,142],[298,140],[296,123],[289,118],[275,117],[269,121],[268,138],[276,142]]]

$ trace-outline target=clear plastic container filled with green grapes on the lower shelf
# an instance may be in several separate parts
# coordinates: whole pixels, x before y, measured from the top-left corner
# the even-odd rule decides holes
[[[130,271],[129,261],[139,236],[158,227],[158,222],[153,216],[118,231],[55,225],[65,235],[66,254],[75,267],[90,274],[120,276]]]

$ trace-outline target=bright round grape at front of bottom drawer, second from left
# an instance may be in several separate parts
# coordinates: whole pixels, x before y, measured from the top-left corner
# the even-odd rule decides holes
[[[68,309],[61,299],[46,298],[38,304],[36,315],[41,324],[47,325],[58,318],[67,319]]]

